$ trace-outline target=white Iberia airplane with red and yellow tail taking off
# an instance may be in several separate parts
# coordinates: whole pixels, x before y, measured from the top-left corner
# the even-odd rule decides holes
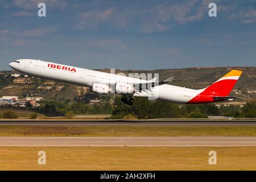
[[[242,74],[242,71],[233,69],[207,88],[196,90],[168,84],[173,77],[164,81],[156,81],[156,78],[142,80],[35,59],[19,59],[9,65],[24,75],[88,86],[92,92],[99,94],[122,94],[121,101],[127,105],[133,105],[134,97],[154,98],[177,104],[232,101],[238,97],[229,97],[229,93]]]

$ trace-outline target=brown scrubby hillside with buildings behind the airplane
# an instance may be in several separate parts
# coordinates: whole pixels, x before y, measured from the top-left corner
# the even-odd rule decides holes
[[[156,69],[151,71],[116,70],[115,72],[123,72],[126,75],[127,73],[159,73],[159,80],[165,80],[166,78],[173,76],[174,80],[171,83],[172,85],[201,89],[218,80],[218,78],[224,76],[231,69],[239,69],[243,71],[243,74],[234,87],[234,92],[230,95],[242,97],[243,101],[248,100],[245,96],[249,96],[249,99],[256,98],[256,67]],[[109,69],[100,69],[100,71],[109,72]],[[39,78],[30,78],[29,84],[26,85],[22,80],[17,81],[18,78],[11,78],[11,73],[14,72],[0,72],[0,97],[38,96],[43,97],[44,100],[65,101],[73,100],[75,97],[79,97],[81,94],[86,93],[85,87],[64,84],[61,82],[52,82]]]

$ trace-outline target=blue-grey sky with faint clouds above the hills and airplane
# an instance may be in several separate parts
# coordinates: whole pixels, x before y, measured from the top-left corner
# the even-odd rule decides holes
[[[0,0],[0,70],[16,59],[88,69],[255,66],[256,1]]]

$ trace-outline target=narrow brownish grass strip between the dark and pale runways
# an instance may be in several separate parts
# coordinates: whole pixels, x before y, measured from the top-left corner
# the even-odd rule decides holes
[[[256,137],[256,126],[0,126],[10,137]]]

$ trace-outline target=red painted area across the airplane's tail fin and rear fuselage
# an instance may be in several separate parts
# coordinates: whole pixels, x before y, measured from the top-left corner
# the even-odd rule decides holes
[[[200,104],[214,102],[214,96],[226,97],[229,95],[237,80],[220,80],[214,82],[208,86],[203,92],[198,94],[192,100],[188,101],[187,104]]]

